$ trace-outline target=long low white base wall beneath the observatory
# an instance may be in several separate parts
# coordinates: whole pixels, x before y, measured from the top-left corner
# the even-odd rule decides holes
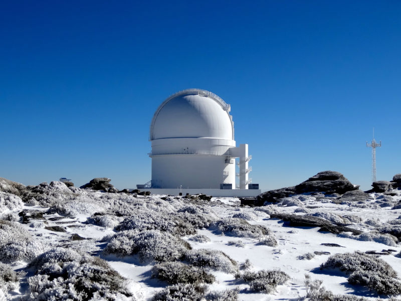
[[[203,188],[147,188],[140,191],[149,191],[151,194],[156,195],[179,195],[182,193],[185,196],[187,193],[206,194],[214,197],[256,197],[261,194],[260,189],[203,189]]]

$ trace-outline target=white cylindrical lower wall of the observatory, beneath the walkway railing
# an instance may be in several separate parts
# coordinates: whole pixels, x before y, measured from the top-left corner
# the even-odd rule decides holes
[[[228,175],[224,175],[224,173]],[[152,156],[152,187],[220,189],[221,183],[235,188],[235,164],[226,156],[158,155]]]

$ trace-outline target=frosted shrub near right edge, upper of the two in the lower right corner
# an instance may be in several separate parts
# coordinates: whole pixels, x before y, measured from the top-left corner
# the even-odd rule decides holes
[[[335,254],[320,265],[320,269],[339,269],[346,274],[354,271],[371,271],[396,277],[394,269],[384,260],[362,252]]]

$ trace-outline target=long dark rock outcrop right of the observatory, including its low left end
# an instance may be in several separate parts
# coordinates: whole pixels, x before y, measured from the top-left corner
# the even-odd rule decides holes
[[[258,196],[259,202],[275,203],[282,198],[296,194],[323,192],[325,194],[344,194],[357,190],[358,185],[353,185],[338,172],[325,171],[316,174],[297,186],[280,188],[264,192]]]

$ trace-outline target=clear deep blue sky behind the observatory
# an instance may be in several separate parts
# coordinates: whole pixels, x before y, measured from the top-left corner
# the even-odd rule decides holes
[[[399,1],[4,1],[0,177],[150,180],[149,124],[186,88],[231,104],[262,190],[401,173]],[[195,172],[195,171],[194,171]]]

